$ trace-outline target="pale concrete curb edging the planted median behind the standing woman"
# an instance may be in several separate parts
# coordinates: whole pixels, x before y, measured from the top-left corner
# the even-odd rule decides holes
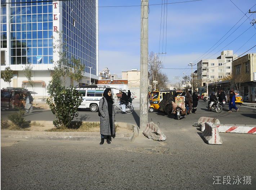
[[[38,121],[36,121],[38,122]],[[44,122],[48,123],[52,121]],[[112,141],[133,142],[139,135],[139,128],[131,123],[116,122],[121,128],[133,129],[131,133],[116,133]],[[46,132],[1,130],[1,138],[16,140],[51,140],[51,141],[100,141],[99,132]]]

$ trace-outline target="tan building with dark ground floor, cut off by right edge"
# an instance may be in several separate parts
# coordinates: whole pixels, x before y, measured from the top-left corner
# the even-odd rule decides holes
[[[241,87],[243,101],[255,101],[256,53],[238,57],[233,61],[232,70],[235,73],[238,90]]]

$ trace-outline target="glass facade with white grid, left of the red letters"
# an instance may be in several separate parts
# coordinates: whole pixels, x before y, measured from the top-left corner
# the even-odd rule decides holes
[[[10,4],[11,64],[48,64],[53,59],[52,2]],[[4,14],[4,13],[3,13]]]

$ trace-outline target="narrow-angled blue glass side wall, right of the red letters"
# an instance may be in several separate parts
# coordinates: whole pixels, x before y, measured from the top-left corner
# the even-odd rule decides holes
[[[85,72],[96,75],[95,0],[63,1],[63,39],[67,39],[67,57],[81,60]],[[71,63],[71,62],[70,62]]]

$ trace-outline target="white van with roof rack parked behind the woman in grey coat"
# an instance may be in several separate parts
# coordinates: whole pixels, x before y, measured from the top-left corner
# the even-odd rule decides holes
[[[82,104],[78,108],[90,108],[92,112],[96,112],[99,109],[99,101],[103,97],[105,89],[111,89],[109,86],[97,86],[97,85],[82,85],[76,86],[76,90],[79,95],[82,96]],[[113,90],[112,97],[114,97]]]

